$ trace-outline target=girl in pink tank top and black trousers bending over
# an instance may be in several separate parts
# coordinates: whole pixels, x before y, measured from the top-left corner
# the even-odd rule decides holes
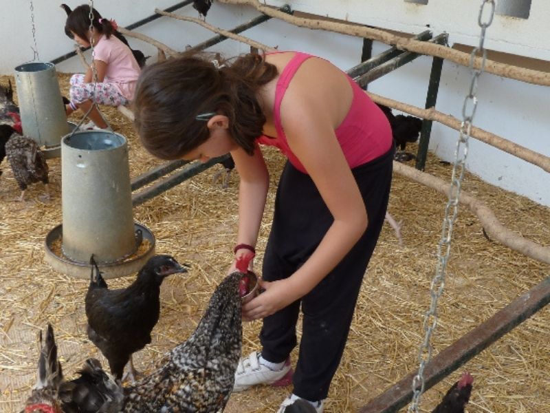
[[[243,305],[243,319],[263,319],[263,348],[239,361],[234,391],[289,372],[301,306],[294,390],[278,411],[305,399],[322,412],[386,214],[394,152],[386,116],[338,67],[300,52],[248,54],[221,66],[201,55],[151,65],[133,109],[144,147],[159,158],[206,162],[231,153],[240,177],[235,261],[255,252],[267,198],[260,145],[287,156],[265,291]]]

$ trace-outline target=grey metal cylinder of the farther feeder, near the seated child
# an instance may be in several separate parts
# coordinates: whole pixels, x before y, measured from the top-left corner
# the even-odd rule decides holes
[[[39,146],[58,147],[61,138],[71,130],[67,125],[55,65],[50,62],[19,65],[15,67],[15,83],[23,134]]]

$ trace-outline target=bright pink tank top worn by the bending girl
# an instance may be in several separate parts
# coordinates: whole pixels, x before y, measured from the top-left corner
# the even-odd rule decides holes
[[[279,76],[275,89],[274,123],[276,138],[261,136],[261,145],[278,147],[298,171],[307,173],[302,163],[292,153],[281,125],[281,101],[287,87],[300,65],[312,57],[310,54],[296,52]],[[347,76],[347,74],[346,74]],[[366,95],[352,78],[347,76],[353,89],[353,101],[349,112],[335,130],[336,138],[350,168],[363,165],[369,160],[384,155],[392,145],[392,132],[388,119],[377,105]]]

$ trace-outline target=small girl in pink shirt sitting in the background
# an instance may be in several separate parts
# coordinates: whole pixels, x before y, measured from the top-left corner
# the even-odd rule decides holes
[[[137,77],[140,75],[140,66],[130,48],[112,35],[116,23],[103,19],[95,8],[92,10],[94,19],[91,32],[90,8],[86,4],[70,12],[65,23],[65,31],[74,36],[78,45],[89,47],[93,39],[92,59],[97,73],[97,82],[91,66],[86,74],[74,74],[71,77],[69,103],[65,105],[67,116],[76,109],[85,114],[93,102],[109,106],[128,105],[133,99]],[[96,127],[107,127],[96,107],[88,116]]]

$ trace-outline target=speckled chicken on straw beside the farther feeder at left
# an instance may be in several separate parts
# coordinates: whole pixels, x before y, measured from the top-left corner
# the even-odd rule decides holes
[[[35,182],[43,182],[44,197],[50,198],[46,158],[34,139],[18,133],[12,134],[5,143],[5,156],[21,189],[19,201],[23,201],[27,187]]]

